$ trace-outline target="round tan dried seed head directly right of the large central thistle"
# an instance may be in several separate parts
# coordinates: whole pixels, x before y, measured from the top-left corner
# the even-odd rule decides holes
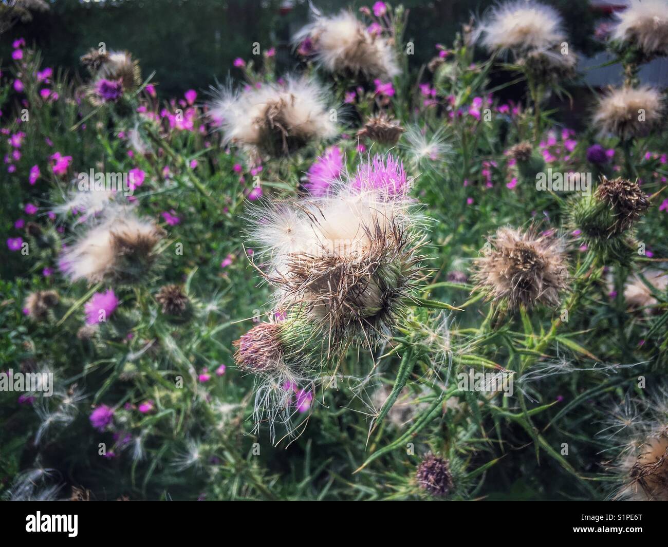
[[[536,234],[500,228],[477,258],[475,279],[478,289],[494,300],[504,300],[510,309],[522,305],[558,305],[566,289],[568,269],[562,241]]]

